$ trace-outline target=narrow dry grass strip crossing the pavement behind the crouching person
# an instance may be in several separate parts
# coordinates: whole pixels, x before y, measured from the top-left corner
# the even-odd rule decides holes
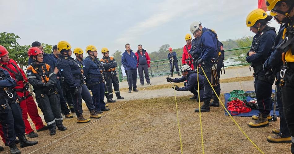
[[[247,77],[232,77],[232,78],[227,78],[227,79],[220,79],[220,83],[228,83],[228,82],[240,82],[240,81],[251,81],[253,80],[252,76],[247,76]],[[179,87],[183,86],[183,83],[172,83],[174,85],[177,85]],[[164,84],[164,85],[152,85],[148,86],[147,88],[145,87],[139,87],[137,88],[138,90],[155,90],[155,89],[165,89],[165,88],[171,88],[171,84]],[[121,92],[126,92],[128,91],[128,88],[121,88]]]

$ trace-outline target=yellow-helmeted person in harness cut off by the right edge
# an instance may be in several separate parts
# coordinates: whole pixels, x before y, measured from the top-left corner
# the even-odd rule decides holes
[[[281,58],[283,61],[280,73],[278,73],[280,80],[277,84],[282,87],[283,115],[291,135],[291,152],[294,153],[294,106],[292,99],[294,93],[294,1],[266,0],[266,6],[268,10],[272,10],[276,17],[285,24],[285,29],[282,31],[282,40],[275,47],[275,52],[279,53],[277,54],[278,58]],[[270,65],[265,66],[266,68],[271,68]],[[271,137],[268,137],[269,139]]]

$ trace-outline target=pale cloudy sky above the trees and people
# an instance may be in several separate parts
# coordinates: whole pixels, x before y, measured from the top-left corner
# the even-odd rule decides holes
[[[92,44],[110,55],[142,44],[147,52],[163,44],[181,48],[190,24],[200,21],[214,29],[220,41],[254,35],[246,17],[258,0],[2,0],[1,32],[15,33],[20,45],[34,41],[56,45],[65,40],[72,50]],[[270,26],[279,25],[272,20]],[[98,54],[102,58],[101,54]]]

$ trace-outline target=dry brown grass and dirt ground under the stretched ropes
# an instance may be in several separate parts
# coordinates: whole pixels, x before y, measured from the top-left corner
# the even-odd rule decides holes
[[[224,101],[223,94],[221,95]],[[175,98],[137,99],[109,103],[112,110],[101,119],[78,124],[76,117],[64,119],[67,131],[50,136],[49,131],[38,132],[39,144],[20,148],[22,153],[180,153]],[[179,123],[184,153],[201,153],[198,103],[189,97],[177,97]],[[123,105],[122,105],[123,104]],[[201,103],[202,104],[202,103]],[[122,106],[120,106],[122,105]],[[120,107],[118,107],[120,106]],[[84,117],[89,111],[84,107]],[[117,109],[115,109],[118,107]],[[202,113],[205,153],[259,153],[241,133],[222,107],[211,107]],[[234,117],[245,133],[265,153],[289,153],[291,144],[273,144],[266,136],[279,127],[279,118],[269,127],[248,127],[250,117]],[[32,140],[32,139],[31,139]],[[49,145],[48,145],[49,144]],[[19,146],[19,145],[18,145]],[[5,147],[3,153],[9,153]]]

